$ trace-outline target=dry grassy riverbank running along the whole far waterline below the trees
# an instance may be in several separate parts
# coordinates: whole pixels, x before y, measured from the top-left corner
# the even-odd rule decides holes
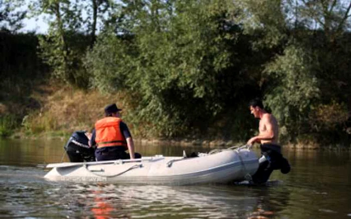
[[[204,135],[213,136],[212,139],[205,138],[201,134],[192,137],[169,138],[158,137],[157,134],[148,135],[146,133],[149,132],[145,131],[146,126],[140,121],[133,120],[130,114],[131,111],[135,110],[133,109],[133,101],[123,92],[117,92],[113,95],[102,94],[97,90],[84,91],[59,84],[46,84],[37,87],[30,96],[35,104],[32,104],[32,108],[27,106],[30,109],[25,113],[21,111],[23,113],[19,115],[21,124],[10,135],[11,138],[60,138],[65,141],[73,131],[91,131],[94,122],[104,116],[103,109],[110,102],[117,102],[118,107],[123,109],[122,118],[127,122],[134,140],[139,144],[199,145],[223,148],[244,145],[245,139],[251,136],[247,133],[248,136],[241,136],[242,140],[237,140],[228,136],[221,137],[218,133],[216,133],[217,135],[209,135],[208,132],[204,132]],[[11,107],[11,103],[8,105],[2,103],[3,113],[16,112]],[[230,119],[230,117],[222,119]],[[230,136],[232,136],[232,133],[235,132],[231,131],[230,128],[226,131],[231,132]],[[217,130],[216,128],[212,129]],[[297,141],[297,143],[283,143],[283,145],[298,150],[350,150],[351,148],[350,145],[336,143],[321,145],[316,138]],[[258,147],[258,145],[255,146]]]

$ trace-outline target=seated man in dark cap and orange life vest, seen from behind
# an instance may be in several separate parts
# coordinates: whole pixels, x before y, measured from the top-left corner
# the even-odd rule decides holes
[[[120,110],[115,103],[106,106],[105,117],[95,123],[89,144],[97,146],[97,161],[141,157],[139,153],[134,153],[134,142],[128,126],[120,118]]]

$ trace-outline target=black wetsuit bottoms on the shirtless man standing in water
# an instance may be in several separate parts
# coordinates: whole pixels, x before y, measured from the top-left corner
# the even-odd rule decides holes
[[[276,144],[261,144],[261,154],[265,160],[260,161],[252,181],[257,184],[265,183],[274,169],[280,169],[284,174],[290,171],[290,164],[280,152],[280,146]]]

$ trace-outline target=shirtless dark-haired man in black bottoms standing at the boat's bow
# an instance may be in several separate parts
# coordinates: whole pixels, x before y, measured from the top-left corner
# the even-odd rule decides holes
[[[268,113],[260,99],[255,98],[250,101],[250,111],[255,118],[260,119],[259,134],[251,137],[248,145],[253,143],[261,143],[260,165],[257,172],[252,176],[254,183],[264,183],[268,180],[274,169],[281,169],[282,173],[290,171],[290,165],[281,154],[281,147],[278,141],[278,122],[277,119]]]

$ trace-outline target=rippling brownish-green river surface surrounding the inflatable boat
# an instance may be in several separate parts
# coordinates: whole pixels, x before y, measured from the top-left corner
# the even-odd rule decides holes
[[[288,150],[292,169],[266,185],[52,182],[43,164],[68,161],[62,140],[0,139],[0,218],[350,218],[351,153]],[[139,145],[143,155],[213,148]],[[257,154],[259,151],[255,149]]]

